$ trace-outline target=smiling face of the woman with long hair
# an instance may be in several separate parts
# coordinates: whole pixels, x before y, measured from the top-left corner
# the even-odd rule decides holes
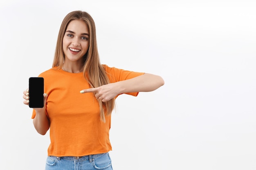
[[[89,28],[81,20],[71,21],[63,37],[65,63],[82,63],[89,48]]]

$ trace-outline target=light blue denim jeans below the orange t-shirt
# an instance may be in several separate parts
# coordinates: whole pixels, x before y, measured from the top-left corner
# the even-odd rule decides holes
[[[113,170],[109,153],[83,157],[48,156],[45,170]]]

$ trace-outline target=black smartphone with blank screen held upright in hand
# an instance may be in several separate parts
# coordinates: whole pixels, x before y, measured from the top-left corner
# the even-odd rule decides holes
[[[29,77],[29,107],[44,107],[44,78]]]

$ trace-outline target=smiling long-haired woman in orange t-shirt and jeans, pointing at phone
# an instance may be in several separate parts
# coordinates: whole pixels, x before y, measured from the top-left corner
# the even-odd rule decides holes
[[[39,77],[45,81],[44,107],[33,108],[32,119],[41,135],[50,129],[46,170],[112,170],[108,152],[115,98],[164,85],[157,75],[102,65],[95,24],[84,11],[66,15],[52,68]],[[23,94],[28,105],[28,89]]]

